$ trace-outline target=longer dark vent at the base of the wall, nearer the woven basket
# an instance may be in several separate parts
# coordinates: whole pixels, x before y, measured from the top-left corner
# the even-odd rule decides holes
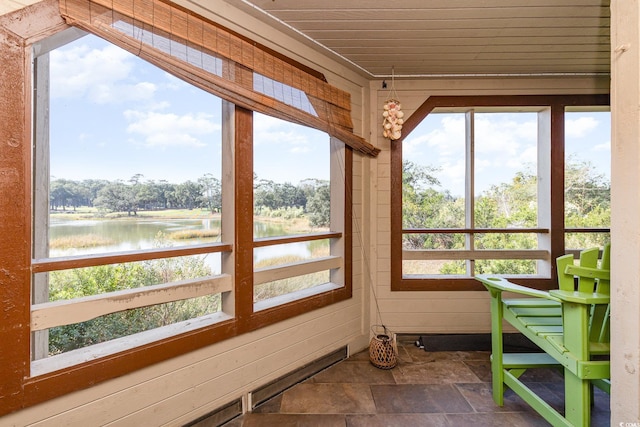
[[[251,393],[253,405],[251,409],[346,358],[347,347],[345,346],[254,390]]]

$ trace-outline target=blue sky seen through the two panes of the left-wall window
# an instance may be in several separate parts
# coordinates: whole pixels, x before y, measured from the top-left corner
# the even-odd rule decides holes
[[[219,98],[94,36],[50,58],[54,179],[220,177]],[[263,115],[254,127],[258,178],[328,179],[326,134]]]

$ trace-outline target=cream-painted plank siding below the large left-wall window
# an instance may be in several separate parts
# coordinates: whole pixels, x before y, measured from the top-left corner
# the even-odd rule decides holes
[[[358,338],[347,301],[0,418],[3,426],[182,425]]]

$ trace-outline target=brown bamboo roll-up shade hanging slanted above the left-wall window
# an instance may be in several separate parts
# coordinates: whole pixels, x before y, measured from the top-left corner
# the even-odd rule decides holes
[[[354,150],[351,97],[302,67],[166,0],[60,0],[80,27],[241,107],[327,132]]]

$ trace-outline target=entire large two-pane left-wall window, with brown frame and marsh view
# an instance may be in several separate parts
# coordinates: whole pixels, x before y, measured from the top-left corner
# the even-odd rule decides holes
[[[123,22],[114,28],[126,30]],[[152,64],[75,28],[35,43],[26,60],[26,51],[2,45],[8,75],[32,85],[33,100],[0,88],[11,105],[4,116],[20,123],[3,152],[3,171],[15,172],[1,183],[11,200],[3,202],[2,227],[11,230],[3,247],[12,249],[3,260],[11,284],[0,293],[20,309],[0,325],[12,343],[2,349],[0,414],[351,297],[352,149],[286,120],[309,99],[322,106],[318,99],[287,104],[284,114],[275,99],[265,101],[276,119],[247,108],[242,96],[242,105],[232,102],[244,89],[226,85],[224,99],[209,90],[215,84],[202,73],[217,73],[217,65],[190,78],[191,62],[216,58],[204,51],[196,58],[188,50],[183,68],[173,44],[168,53],[177,57]],[[329,88],[322,76],[287,67]],[[242,84],[252,87],[252,76],[243,74]],[[286,78],[278,88],[305,96]],[[348,96],[341,99],[348,112]],[[331,127],[320,120],[309,125]],[[265,138],[260,123],[269,121],[284,133]],[[287,137],[290,145],[280,145]],[[305,173],[290,182],[278,177],[289,152]],[[254,192],[256,176],[278,185]],[[289,184],[304,203],[258,206]],[[261,222],[278,231],[254,235]],[[289,245],[306,252],[280,256]]]

